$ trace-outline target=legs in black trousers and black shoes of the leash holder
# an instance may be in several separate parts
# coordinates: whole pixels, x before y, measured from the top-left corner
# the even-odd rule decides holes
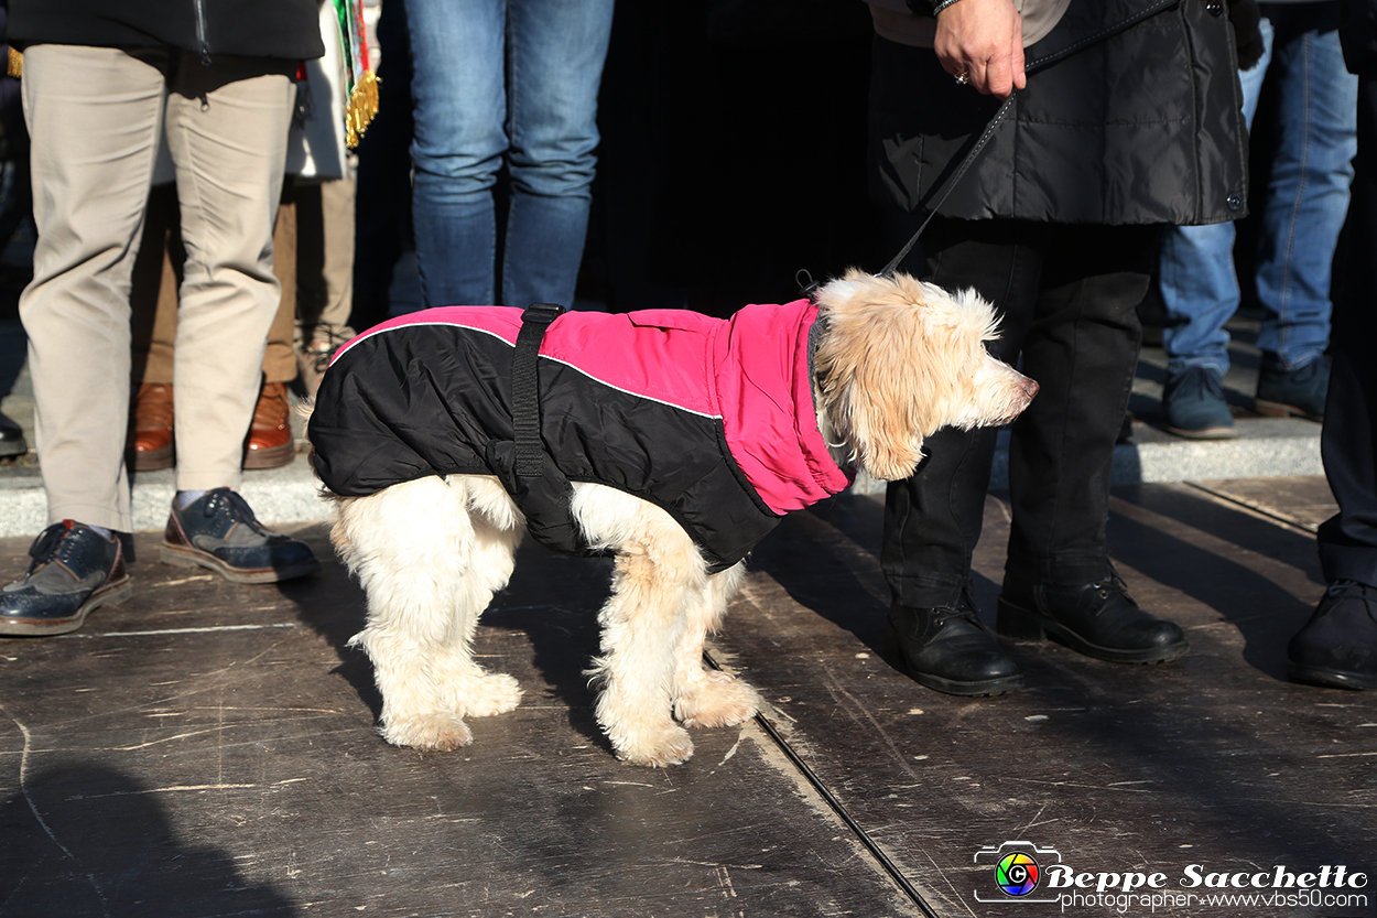
[[[927,280],[974,287],[1001,317],[990,351],[1040,391],[1013,422],[1012,527],[1000,630],[1052,635],[1092,656],[1158,662],[1186,652],[1175,624],[1140,611],[1108,561],[1110,467],[1142,340],[1159,229],[935,219]],[[891,655],[954,695],[1022,685],[969,598],[997,433],[929,437],[917,474],[890,484],[881,567],[894,595]]]

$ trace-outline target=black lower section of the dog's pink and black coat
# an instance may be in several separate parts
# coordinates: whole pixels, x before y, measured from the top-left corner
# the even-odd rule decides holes
[[[558,361],[538,361],[545,474],[512,470],[505,340],[427,325],[357,342],[321,382],[310,420],[317,473],[341,496],[427,476],[492,474],[533,538],[589,551],[570,511],[570,482],[592,481],[665,509],[711,569],[746,555],[779,517],[745,480],[720,419],[621,391]]]

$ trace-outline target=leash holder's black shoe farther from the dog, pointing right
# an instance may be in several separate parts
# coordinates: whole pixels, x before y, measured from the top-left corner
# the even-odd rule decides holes
[[[996,629],[1023,641],[1051,637],[1111,663],[1165,663],[1190,649],[1176,623],[1137,608],[1117,573],[1070,587],[1005,583]]]

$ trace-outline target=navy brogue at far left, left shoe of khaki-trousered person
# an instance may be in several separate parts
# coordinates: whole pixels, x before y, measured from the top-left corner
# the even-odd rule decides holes
[[[106,538],[63,520],[33,540],[29,557],[29,571],[0,589],[0,634],[76,631],[94,609],[118,605],[134,591],[114,533]]]

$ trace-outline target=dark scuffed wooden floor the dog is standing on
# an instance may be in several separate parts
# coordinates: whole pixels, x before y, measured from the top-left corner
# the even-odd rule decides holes
[[[1063,914],[1042,901],[1069,892],[1056,864],[1121,896],[1073,888],[1064,914],[1377,915],[1377,693],[1285,680],[1329,511],[1319,478],[1117,491],[1120,572],[1191,653],[1013,644],[1027,689],[983,700],[884,662],[877,500],[796,514],[712,646],[763,718],[695,732],[666,771],[618,762],[592,720],[603,561],[523,549],[478,651],[526,699],[423,754],[373,732],[372,673],[346,646],[362,597],[337,564],[235,586],[160,565],[140,533],[134,600],[0,641],[0,917],[1022,918]],[[991,498],[976,557],[991,616],[1004,513]],[[299,532],[329,554],[324,527]],[[6,578],[26,549],[0,540]],[[1012,842],[1042,866],[1024,897],[996,882]],[[1162,878],[1129,900],[1125,874]],[[1212,874],[1327,885],[1181,885]]]

